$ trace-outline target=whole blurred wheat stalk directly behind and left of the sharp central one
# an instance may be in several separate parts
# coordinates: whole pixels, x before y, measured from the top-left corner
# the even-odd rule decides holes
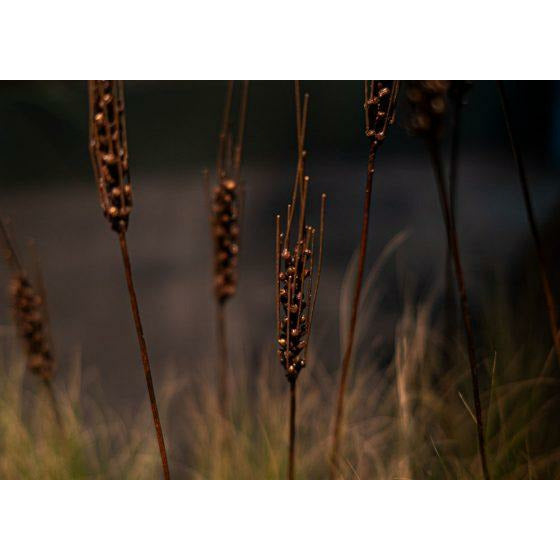
[[[208,174],[205,187],[210,200],[210,226],[214,245],[214,294],[218,346],[218,402],[226,415],[229,408],[228,343],[226,303],[237,290],[239,220],[242,207],[241,161],[247,115],[249,82],[243,83],[237,115],[237,135],[233,139],[231,107],[233,81],[228,82],[216,161],[216,185],[211,189]]]

